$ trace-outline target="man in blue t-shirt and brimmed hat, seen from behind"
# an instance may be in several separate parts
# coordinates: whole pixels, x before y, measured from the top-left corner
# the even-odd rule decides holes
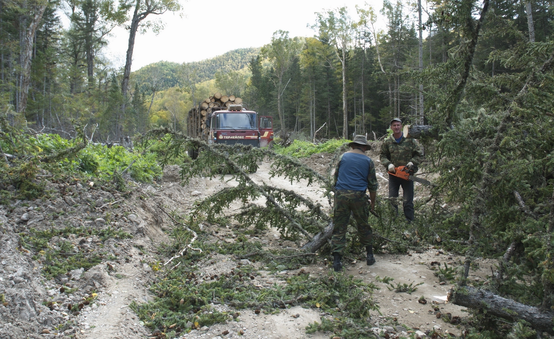
[[[358,226],[360,243],[367,250],[367,264],[373,265],[373,232],[367,219],[371,210],[375,207],[377,193],[377,177],[375,165],[366,151],[371,150],[366,137],[357,135],[348,144],[351,151],[343,153],[338,159],[335,168],[335,209],[333,215],[333,235],[331,237],[331,253],[333,254],[333,268],[335,271],[342,269],[342,251],[346,245],[346,228],[350,221],[350,213],[354,215]],[[366,189],[370,192],[368,201]]]

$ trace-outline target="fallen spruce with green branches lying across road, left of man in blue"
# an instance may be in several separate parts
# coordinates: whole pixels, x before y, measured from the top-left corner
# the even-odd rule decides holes
[[[184,183],[195,176],[229,180],[224,177],[229,173],[233,176],[232,180],[238,182],[237,186],[214,192],[212,196],[198,203],[194,209],[195,215],[204,214],[208,220],[213,220],[228,209],[230,203],[239,201],[242,202],[242,207],[239,213],[233,215],[234,219],[244,225],[254,225],[258,229],[276,228],[281,235],[299,244],[300,251],[303,253],[315,253],[329,242],[333,229],[332,219],[322,209],[321,204],[294,191],[255,183],[248,173],[257,170],[258,161],[264,159],[271,161],[271,177],[283,176],[290,179],[291,183],[306,180],[308,185],[318,184],[332,206],[334,188],[330,183],[330,172],[338,156],[346,150],[346,145],[337,149],[334,160],[330,162],[328,175],[322,176],[314,169],[303,165],[297,158],[280,155],[266,148],[245,145],[208,145],[203,140],[191,138],[170,129],[153,130],[146,139],[163,136],[171,137],[163,138],[167,143],[165,147],[167,152],[162,163],[171,161],[189,148],[194,147],[199,150],[198,158],[181,169]],[[265,198],[264,206],[248,203],[260,197]],[[384,242],[391,240],[379,234],[374,234],[374,237]],[[400,240],[401,233],[398,233],[398,241],[393,240],[393,242],[399,244]]]

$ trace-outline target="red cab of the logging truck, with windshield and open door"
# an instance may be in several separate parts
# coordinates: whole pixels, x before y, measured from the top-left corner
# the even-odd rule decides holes
[[[257,112],[246,110],[242,105],[229,105],[227,109],[212,110],[208,118],[208,143],[240,143],[264,147],[273,140],[271,117],[259,116]]]

